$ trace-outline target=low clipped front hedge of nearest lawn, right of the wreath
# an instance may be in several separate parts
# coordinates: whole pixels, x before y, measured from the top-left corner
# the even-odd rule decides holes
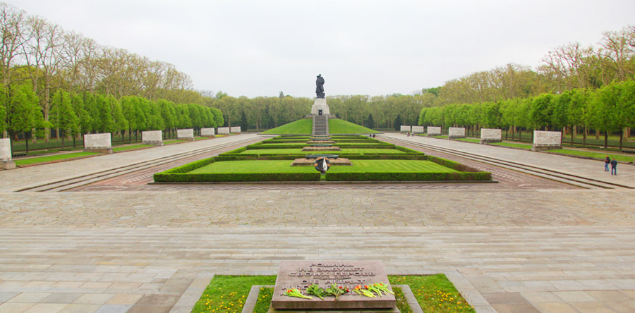
[[[329,181],[492,180],[492,173],[327,173]]]

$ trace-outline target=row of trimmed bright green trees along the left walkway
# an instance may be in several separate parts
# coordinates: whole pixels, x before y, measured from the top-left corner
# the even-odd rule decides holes
[[[223,125],[220,110],[200,104],[174,104],[165,99],[151,101],[144,97],[92,92],[67,92],[59,89],[51,97],[49,121],[44,119],[37,95],[29,81],[12,84],[11,92],[1,91],[0,131],[16,138],[24,133],[28,145],[31,135],[42,135],[44,130],[56,128],[62,147],[66,135],[73,138],[85,133],[128,133],[128,142],[142,130],[165,130],[167,135],[177,128],[217,127]],[[32,134],[32,130],[38,133]]]

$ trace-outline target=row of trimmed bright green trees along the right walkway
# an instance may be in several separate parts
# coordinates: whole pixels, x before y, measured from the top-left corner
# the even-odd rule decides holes
[[[635,81],[625,80],[597,90],[577,88],[560,94],[505,99],[500,102],[450,104],[424,108],[418,125],[463,126],[476,133],[479,128],[518,130],[568,130],[571,144],[577,128],[583,128],[583,144],[589,128],[605,134],[619,132],[622,149],[624,129],[635,126]]]

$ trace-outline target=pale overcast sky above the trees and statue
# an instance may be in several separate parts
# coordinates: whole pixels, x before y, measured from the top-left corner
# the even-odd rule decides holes
[[[231,96],[411,94],[635,24],[635,1],[8,0]]]

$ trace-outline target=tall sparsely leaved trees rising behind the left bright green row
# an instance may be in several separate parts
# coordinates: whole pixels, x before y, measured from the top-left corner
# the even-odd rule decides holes
[[[166,99],[205,104],[205,97],[192,90],[191,78],[173,65],[98,44],[6,3],[0,3],[0,36],[1,97],[4,102],[26,97],[24,86],[30,86],[29,97],[35,99],[44,120],[40,125],[44,132],[38,135],[47,141],[46,126],[60,127],[59,121],[52,121],[54,94],[60,91],[88,92],[121,102],[123,97],[135,96],[151,103]],[[13,121],[4,123],[14,125]]]

